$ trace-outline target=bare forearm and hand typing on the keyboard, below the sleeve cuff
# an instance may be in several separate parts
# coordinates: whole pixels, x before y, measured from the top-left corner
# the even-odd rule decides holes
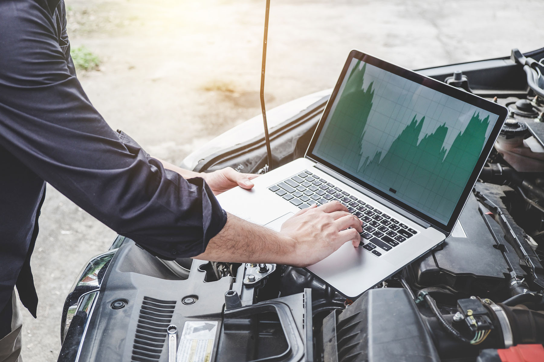
[[[351,227],[351,228],[349,228]],[[358,246],[362,221],[338,201],[312,206],[283,223],[281,232],[228,214],[227,223],[196,259],[307,266],[351,240]]]

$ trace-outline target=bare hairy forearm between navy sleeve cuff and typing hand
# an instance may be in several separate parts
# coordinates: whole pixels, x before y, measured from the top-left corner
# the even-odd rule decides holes
[[[228,214],[227,223],[196,259],[233,263],[295,264],[293,238]]]

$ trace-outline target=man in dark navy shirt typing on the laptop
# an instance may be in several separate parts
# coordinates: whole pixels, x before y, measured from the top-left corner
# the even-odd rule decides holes
[[[0,1],[0,160],[0,361],[21,360],[15,286],[36,317],[30,255],[46,182],[166,259],[302,266],[360,242],[361,221],[336,201],[281,232],[227,214],[214,194],[251,188],[256,175],[183,170],[113,131],[76,78],[64,0]]]

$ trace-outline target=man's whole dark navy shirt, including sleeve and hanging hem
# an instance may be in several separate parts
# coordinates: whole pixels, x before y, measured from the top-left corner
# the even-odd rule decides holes
[[[226,223],[201,178],[165,170],[92,106],[70,58],[63,1],[1,0],[0,310],[17,284],[35,316],[29,261],[45,182],[166,258],[198,255]]]

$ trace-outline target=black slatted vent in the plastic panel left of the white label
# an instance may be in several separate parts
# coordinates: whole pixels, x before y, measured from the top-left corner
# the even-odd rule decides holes
[[[132,347],[132,362],[153,362],[160,359],[176,301],[144,297]]]

